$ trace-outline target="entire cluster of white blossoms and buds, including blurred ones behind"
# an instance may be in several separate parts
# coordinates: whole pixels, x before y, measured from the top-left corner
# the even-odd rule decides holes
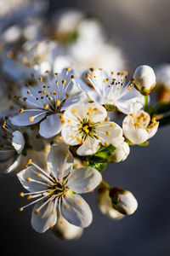
[[[96,189],[100,211],[112,219],[133,214],[134,195],[106,183],[102,172],[156,134],[153,69],[141,65],[129,77],[122,51],[82,12],[54,15],[45,35],[39,15],[46,1],[32,10],[27,1],[19,9],[14,0],[2,2],[0,166],[27,190],[20,192],[29,201],[20,212],[34,205],[33,229],[68,240],[92,223],[84,193]],[[23,21],[28,9],[32,20]],[[5,15],[18,15],[19,24],[5,24]]]

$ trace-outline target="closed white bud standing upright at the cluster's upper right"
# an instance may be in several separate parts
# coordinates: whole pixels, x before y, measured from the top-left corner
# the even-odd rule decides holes
[[[142,65],[133,74],[133,83],[141,94],[149,95],[156,85],[156,75],[150,66]]]

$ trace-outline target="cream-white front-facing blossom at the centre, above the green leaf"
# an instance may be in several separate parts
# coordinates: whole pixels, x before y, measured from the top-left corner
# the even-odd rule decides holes
[[[79,155],[96,153],[100,144],[118,147],[124,140],[122,128],[109,120],[99,104],[74,104],[65,110],[63,119],[61,135],[65,143],[80,145]]]

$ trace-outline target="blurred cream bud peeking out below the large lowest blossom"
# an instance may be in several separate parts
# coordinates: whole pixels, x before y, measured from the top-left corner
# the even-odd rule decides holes
[[[58,236],[61,239],[74,240],[82,236],[83,229],[70,224],[60,215],[52,231],[55,236]]]

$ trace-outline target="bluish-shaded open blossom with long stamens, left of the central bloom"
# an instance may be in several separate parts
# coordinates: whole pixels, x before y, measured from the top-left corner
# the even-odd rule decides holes
[[[71,94],[71,90],[77,87],[75,75],[71,68],[63,69],[62,73],[56,73],[55,77],[49,75],[44,80],[37,79],[36,86],[27,86],[22,89],[20,101],[29,109],[20,109],[20,114],[11,118],[14,125],[26,126],[40,122],[39,133],[42,137],[54,137],[61,131],[65,122],[62,111],[75,102],[83,102],[86,96],[82,91]]]

